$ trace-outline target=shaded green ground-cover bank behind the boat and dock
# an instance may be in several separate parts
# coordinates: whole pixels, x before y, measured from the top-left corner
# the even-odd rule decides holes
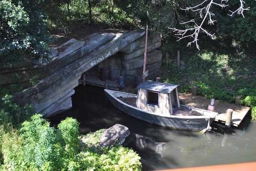
[[[197,95],[223,102],[234,103],[239,95],[241,105],[253,108],[252,115],[256,118],[256,58],[244,51],[230,53],[209,49],[190,53],[183,49],[181,55],[186,67],[164,65],[161,78],[165,82],[179,84],[182,93],[191,93],[192,86],[197,86]]]

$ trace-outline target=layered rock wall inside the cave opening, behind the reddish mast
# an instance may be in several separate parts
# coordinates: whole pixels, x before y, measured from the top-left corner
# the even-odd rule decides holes
[[[161,36],[157,33],[148,34],[147,65],[149,76],[158,72],[161,67],[162,53],[157,50],[161,47]],[[111,66],[117,75],[125,77],[126,81],[133,82],[135,76],[141,76],[143,71],[145,51],[145,35],[135,40],[108,59],[98,64],[98,71],[102,66]]]

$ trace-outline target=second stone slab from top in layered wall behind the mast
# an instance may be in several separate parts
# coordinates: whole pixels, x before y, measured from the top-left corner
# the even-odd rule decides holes
[[[147,53],[157,49],[160,46],[161,46],[161,41],[148,45],[147,46]],[[132,58],[136,58],[137,56],[143,55],[144,52],[145,52],[145,47],[141,47],[141,48],[136,49],[135,51],[133,51],[131,53],[124,54],[122,60],[130,60]]]

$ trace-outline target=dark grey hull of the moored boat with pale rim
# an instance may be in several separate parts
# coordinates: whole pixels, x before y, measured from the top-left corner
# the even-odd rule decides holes
[[[156,124],[163,127],[169,127],[172,129],[181,129],[187,131],[202,131],[208,126],[211,122],[213,122],[214,118],[208,118],[210,121],[206,120],[203,117],[195,117],[195,118],[187,118],[187,117],[165,117],[160,115],[152,115],[147,111],[139,110],[137,107],[130,106],[128,104],[121,103],[120,100],[117,100],[114,96],[109,94],[105,90],[106,96],[111,101],[111,103],[120,109],[124,113],[143,120],[145,122],[149,122],[151,124]]]

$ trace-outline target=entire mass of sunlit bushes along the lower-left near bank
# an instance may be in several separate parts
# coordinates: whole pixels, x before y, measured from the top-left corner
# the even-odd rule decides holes
[[[0,127],[1,128],[1,127]],[[20,131],[13,129],[2,138],[2,170],[140,170],[140,157],[122,146],[101,148],[100,134],[85,135],[89,140],[81,146],[78,122],[66,118],[57,130],[35,114],[22,124]]]

